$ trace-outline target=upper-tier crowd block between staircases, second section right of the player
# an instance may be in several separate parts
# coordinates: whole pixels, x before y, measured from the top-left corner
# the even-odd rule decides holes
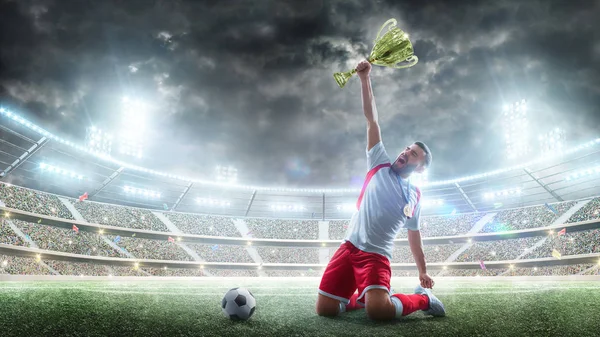
[[[493,221],[481,229],[481,233],[505,232],[519,229],[539,228],[552,225],[556,219],[575,205],[574,201],[545,205],[509,209],[500,211]],[[556,211],[556,213],[554,213]]]

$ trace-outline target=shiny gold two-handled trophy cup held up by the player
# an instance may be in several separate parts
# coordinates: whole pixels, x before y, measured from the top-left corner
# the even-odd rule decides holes
[[[408,40],[408,34],[396,27],[396,23],[396,19],[389,19],[381,26],[368,59],[369,63],[401,69],[412,67],[419,62],[419,58],[414,54],[412,43]],[[388,31],[380,37],[386,26],[389,26]],[[356,73],[356,69],[345,73],[335,73],[333,78],[340,88],[343,88],[354,73]]]

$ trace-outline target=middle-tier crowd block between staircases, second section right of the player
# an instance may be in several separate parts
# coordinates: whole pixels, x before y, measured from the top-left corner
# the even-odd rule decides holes
[[[541,239],[543,238],[531,237],[474,242],[469,249],[456,258],[456,262],[514,260],[519,255],[527,253]]]

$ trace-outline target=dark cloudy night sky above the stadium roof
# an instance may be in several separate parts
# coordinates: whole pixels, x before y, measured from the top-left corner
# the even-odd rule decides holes
[[[132,164],[356,187],[359,80],[340,89],[332,74],[356,66],[396,18],[420,61],[373,67],[383,142],[394,159],[423,141],[429,180],[455,178],[514,163],[501,125],[516,100],[529,102],[532,148],[556,126],[570,144],[600,135],[599,17],[592,0],[1,0],[0,104],[83,144],[91,125],[121,132],[128,96],[149,106]]]

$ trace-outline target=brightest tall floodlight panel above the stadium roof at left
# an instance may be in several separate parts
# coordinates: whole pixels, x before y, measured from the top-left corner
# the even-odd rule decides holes
[[[139,100],[123,97],[122,126],[119,134],[119,152],[141,158],[146,131],[147,106]]]

